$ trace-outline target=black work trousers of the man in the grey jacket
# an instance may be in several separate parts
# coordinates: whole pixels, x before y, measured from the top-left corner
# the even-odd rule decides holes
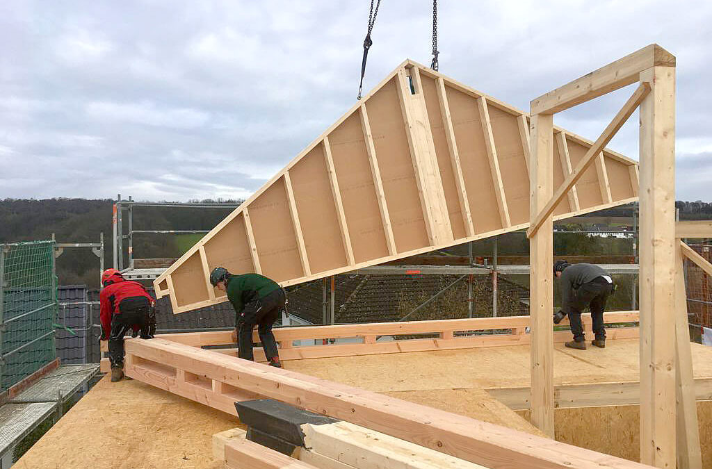
[[[593,332],[596,335],[596,340],[606,339],[606,330],[603,327],[603,311],[606,309],[606,301],[612,289],[612,283],[608,283],[608,281],[602,277],[597,277],[589,283],[584,283],[577,290],[574,290],[572,302],[568,310],[571,332],[574,334],[574,340],[576,342],[583,342],[585,340],[581,313],[586,307],[589,307],[591,310]]]

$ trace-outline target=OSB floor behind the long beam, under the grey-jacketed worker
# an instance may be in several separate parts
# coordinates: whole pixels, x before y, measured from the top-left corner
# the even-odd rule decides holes
[[[712,347],[692,345],[696,377],[712,377]],[[554,346],[555,384],[638,381],[638,339],[609,340],[605,349]],[[302,359],[288,369],[377,392],[529,386],[528,345]]]

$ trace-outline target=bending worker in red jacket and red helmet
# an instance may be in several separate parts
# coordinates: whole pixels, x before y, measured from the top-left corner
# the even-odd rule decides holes
[[[140,331],[142,339],[152,339],[156,331],[155,300],[146,288],[133,280],[125,280],[116,269],[101,275],[104,288],[99,295],[101,305],[101,339],[109,341],[111,381],[124,377],[124,336]]]

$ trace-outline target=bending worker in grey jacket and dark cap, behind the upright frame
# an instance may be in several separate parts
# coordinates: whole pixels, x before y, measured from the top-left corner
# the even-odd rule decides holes
[[[554,263],[554,275],[559,279],[561,291],[561,310],[554,315],[554,323],[558,324],[568,315],[572,342],[566,342],[566,347],[586,349],[586,342],[581,322],[581,313],[590,307],[593,320],[595,340],[591,342],[596,347],[606,347],[606,330],[603,327],[603,311],[606,309],[608,295],[614,290],[613,279],[608,273],[593,264],[570,264],[565,260]]]

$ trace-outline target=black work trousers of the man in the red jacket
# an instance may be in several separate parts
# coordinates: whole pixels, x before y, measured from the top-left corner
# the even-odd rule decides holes
[[[119,303],[119,312],[111,318],[109,336],[109,361],[112,368],[124,366],[124,336],[136,326],[142,339],[152,339],[156,322],[151,302],[147,297],[125,298]]]

